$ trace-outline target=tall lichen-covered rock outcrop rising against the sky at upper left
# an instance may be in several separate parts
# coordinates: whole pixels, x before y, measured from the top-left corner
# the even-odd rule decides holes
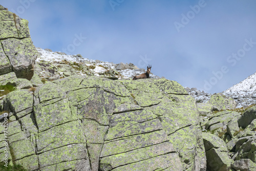
[[[28,20],[0,7],[0,75],[13,72],[17,78],[30,80],[37,51],[30,38]]]

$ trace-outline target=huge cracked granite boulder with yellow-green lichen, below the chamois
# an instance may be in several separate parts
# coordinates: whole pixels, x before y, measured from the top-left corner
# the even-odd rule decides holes
[[[28,170],[206,170],[195,100],[175,81],[71,76],[3,106],[9,161]]]

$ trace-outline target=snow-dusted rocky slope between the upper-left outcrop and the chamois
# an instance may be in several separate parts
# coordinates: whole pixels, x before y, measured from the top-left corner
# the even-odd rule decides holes
[[[116,70],[117,64],[83,58],[81,55],[67,55],[62,52],[52,52],[49,49],[36,48],[39,55],[36,59],[35,72],[40,78],[59,79],[70,75],[94,75],[100,77],[116,77],[129,79],[145,72],[143,69]],[[133,65],[133,64],[131,64]],[[151,78],[159,78],[150,74]]]

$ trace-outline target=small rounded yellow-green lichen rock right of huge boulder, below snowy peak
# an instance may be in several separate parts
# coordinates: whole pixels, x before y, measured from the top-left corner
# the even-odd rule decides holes
[[[228,98],[221,93],[212,95],[208,103],[213,105],[213,108],[217,111],[232,110],[236,109],[237,106],[237,102],[234,99]]]

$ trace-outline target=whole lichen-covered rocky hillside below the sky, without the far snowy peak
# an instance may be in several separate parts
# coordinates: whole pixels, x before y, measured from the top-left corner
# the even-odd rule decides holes
[[[0,16],[8,35],[0,38],[0,161],[8,167],[256,170],[255,103],[238,109],[232,96],[154,74],[133,81],[144,70],[132,63],[35,49],[26,20],[2,6]]]

